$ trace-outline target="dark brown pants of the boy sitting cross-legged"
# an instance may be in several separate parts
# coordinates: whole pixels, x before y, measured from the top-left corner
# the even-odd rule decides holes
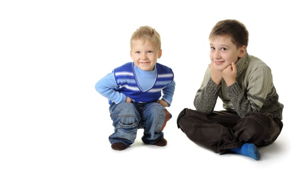
[[[248,112],[240,118],[229,111],[205,114],[188,108],[180,112],[177,124],[191,141],[219,154],[244,143],[270,145],[283,127],[282,121],[271,114]]]

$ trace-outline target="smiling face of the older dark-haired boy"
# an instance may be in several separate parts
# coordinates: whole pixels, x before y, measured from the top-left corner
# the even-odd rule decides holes
[[[210,40],[210,49],[210,59],[219,71],[223,71],[232,62],[236,63],[238,58],[243,57],[246,52],[245,46],[237,48],[229,36],[215,37]]]

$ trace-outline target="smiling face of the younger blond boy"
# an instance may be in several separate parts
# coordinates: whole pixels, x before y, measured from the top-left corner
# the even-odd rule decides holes
[[[158,50],[150,41],[138,39],[132,45],[130,56],[135,65],[143,71],[152,71],[157,63],[157,59],[162,55],[162,50]]]

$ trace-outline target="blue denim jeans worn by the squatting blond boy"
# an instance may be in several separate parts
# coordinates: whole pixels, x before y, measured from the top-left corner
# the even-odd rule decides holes
[[[159,103],[112,103],[109,111],[114,126],[109,142],[120,142],[127,147],[135,142],[139,128],[144,128],[142,141],[154,145],[163,139],[162,130],[171,118],[171,114]]]

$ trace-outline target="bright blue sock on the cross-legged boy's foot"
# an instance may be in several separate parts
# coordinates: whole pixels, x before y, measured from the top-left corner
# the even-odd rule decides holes
[[[240,147],[230,149],[230,151],[251,157],[255,160],[260,159],[260,154],[254,144],[245,143]]]

